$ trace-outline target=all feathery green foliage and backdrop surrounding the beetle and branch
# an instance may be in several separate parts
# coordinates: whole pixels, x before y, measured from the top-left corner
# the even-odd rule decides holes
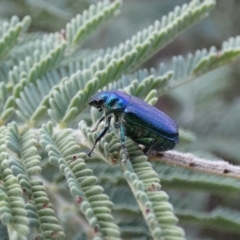
[[[239,180],[130,140],[112,165],[114,130],[85,154],[89,97],[120,88],[176,120],[178,151],[239,165],[238,2],[98,2],[0,2],[0,239],[239,239]]]

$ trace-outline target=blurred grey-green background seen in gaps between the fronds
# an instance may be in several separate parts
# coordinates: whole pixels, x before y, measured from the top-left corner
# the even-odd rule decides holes
[[[13,15],[32,17],[30,31],[55,32],[65,27],[76,14],[83,12],[94,0],[0,0],[0,21]],[[151,25],[175,6],[187,0],[124,0],[121,14],[94,33],[83,48],[113,47],[130,38],[137,31]],[[217,0],[208,18],[182,33],[166,48],[149,59],[143,68],[157,67],[175,55],[186,56],[198,49],[216,46],[239,35],[239,0]],[[184,129],[196,134],[191,144],[179,144],[181,151],[194,152],[207,158],[222,158],[240,163],[240,67],[239,62],[215,70],[192,83],[173,90],[159,99],[157,106],[172,116]],[[164,185],[163,185],[164,188]],[[178,205],[178,199],[194,210],[209,212],[218,206],[240,210],[240,195],[164,189]],[[181,206],[184,207],[184,206]],[[189,239],[240,239],[235,233],[184,225]],[[207,238],[208,236],[209,238]]]

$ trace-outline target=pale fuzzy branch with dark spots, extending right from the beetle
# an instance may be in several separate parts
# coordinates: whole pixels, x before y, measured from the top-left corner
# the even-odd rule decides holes
[[[199,172],[240,179],[240,166],[234,166],[223,160],[210,161],[198,158],[191,153],[177,151],[153,152],[149,156],[149,161],[163,162]]]

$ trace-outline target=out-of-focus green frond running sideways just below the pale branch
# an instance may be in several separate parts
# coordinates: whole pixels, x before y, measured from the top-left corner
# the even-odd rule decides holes
[[[99,177],[101,184],[110,182],[114,186],[126,187],[127,183],[119,169],[115,168],[113,170],[111,166],[96,162],[89,162],[88,164]],[[196,173],[182,168],[172,168],[164,164],[154,164],[153,166],[161,179],[161,184],[169,189],[205,191],[218,195],[224,195],[227,191],[228,194],[236,196],[240,188],[236,179]],[[98,169],[101,170],[100,173]]]

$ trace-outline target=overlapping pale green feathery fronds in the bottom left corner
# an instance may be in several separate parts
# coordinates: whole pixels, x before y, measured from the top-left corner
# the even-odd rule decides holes
[[[5,156],[2,153],[2,164],[4,165],[4,162],[7,164],[1,168],[4,198],[10,201],[8,205],[4,204],[5,208],[2,206],[2,223],[8,228],[13,228],[16,233],[10,231],[11,234],[17,234],[21,239],[27,239],[29,227],[37,230],[38,237],[64,238],[42,182],[32,179],[33,175],[41,173],[39,166],[41,157],[34,146],[37,143],[34,134],[26,130],[20,134],[17,125],[13,123],[4,130],[2,139],[4,141],[2,147],[11,150],[11,154],[6,152]],[[10,184],[11,188],[8,186],[9,181],[14,182]],[[26,203],[24,199],[27,200]]]

